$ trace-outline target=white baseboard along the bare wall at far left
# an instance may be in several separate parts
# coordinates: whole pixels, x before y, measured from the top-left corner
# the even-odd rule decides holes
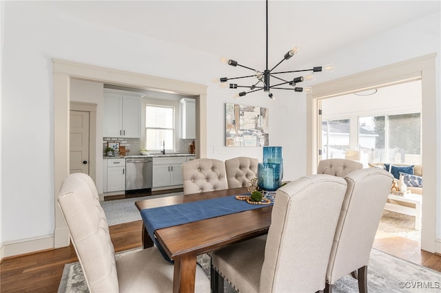
[[[3,243],[1,259],[48,249],[54,249],[54,235]]]

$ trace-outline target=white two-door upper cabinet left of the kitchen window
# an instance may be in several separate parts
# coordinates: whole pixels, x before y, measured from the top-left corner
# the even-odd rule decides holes
[[[103,137],[141,138],[141,97],[104,92]]]

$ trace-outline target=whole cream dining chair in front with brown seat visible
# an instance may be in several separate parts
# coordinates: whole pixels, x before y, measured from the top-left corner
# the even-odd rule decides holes
[[[347,183],[329,175],[301,177],[276,192],[267,236],[215,252],[212,292],[224,279],[238,292],[316,292],[326,269]]]

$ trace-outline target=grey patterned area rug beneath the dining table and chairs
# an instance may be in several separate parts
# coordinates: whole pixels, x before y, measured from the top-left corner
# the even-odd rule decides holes
[[[133,250],[116,254],[116,257],[130,252]],[[208,254],[199,256],[198,263],[210,277]],[[367,280],[369,292],[440,292],[441,273],[372,249]],[[58,292],[88,292],[79,262],[65,265]],[[236,293],[236,290],[225,281],[224,292]],[[358,283],[347,275],[334,284],[333,292],[358,293]]]

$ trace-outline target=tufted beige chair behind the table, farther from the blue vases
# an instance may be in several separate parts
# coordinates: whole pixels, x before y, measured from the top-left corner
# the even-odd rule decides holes
[[[216,159],[196,159],[182,164],[184,194],[227,189],[225,164]]]

